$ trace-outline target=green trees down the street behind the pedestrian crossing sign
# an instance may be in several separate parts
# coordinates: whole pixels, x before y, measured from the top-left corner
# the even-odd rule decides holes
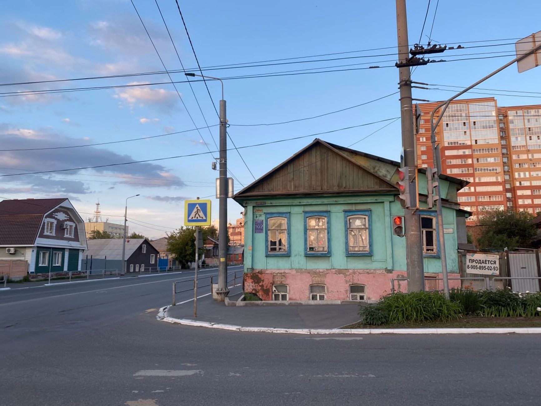
[[[202,228],[203,244],[208,237],[217,239],[216,227]],[[183,268],[195,261],[195,227],[180,227],[179,230],[167,234],[167,250],[175,256]],[[204,248],[200,247],[199,258],[202,257]]]

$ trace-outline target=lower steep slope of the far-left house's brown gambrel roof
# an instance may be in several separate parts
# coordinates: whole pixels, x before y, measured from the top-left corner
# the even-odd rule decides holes
[[[0,215],[0,245],[33,245],[43,214]]]

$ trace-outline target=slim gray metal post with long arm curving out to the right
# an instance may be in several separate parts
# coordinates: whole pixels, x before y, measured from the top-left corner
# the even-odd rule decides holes
[[[397,0],[398,1],[404,1],[404,0]],[[441,102],[436,106],[432,112],[430,113],[430,140],[432,142],[432,154],[433,154],[433,160],[436,161],[436,169],[438,173],[438,177],[441,174],[441,157],[439,156],[439,148],[436,148],[436,128],[438,127],[441,119],[443,119],[443,116],[445,114],[445,110],[447,110],[447,107],[451,103],[452,100],[456,99],[460,95],[463,95],[466,93],[466,91],[469,91],[473,89],[474,87],[478,86],[478,84],[483,83],[488,78],[496,75],[498,72],[504,70],[507,67],[510,67],[515,62],[522,61],[525,57],[535,53],[537,50],[541,49],[541,44],[538,45],[536,48],[528,51],[527,53],[524,53],[523,55],[520,55],[516,58],[514,58],[512,61],[507,62],[504,66],[494,70],[491,74],[486,75],[485,77],[481,78],[477,82],[473,83],[471,86],[468,86],[464,90],[459,91],[456,95],[449,97],[444,102]],[[434,122],[434,114],[441,108],[441,111],[439,112],[438,119],[436,122]],[[439,233],[439,243],[440,243],[440,258],[441,258],[441,274],[443,276],[443,283],[444,283],[444,293],[445,296],[449,297],[449,282],[447,278],[447,262],[446,262],[446,256],[445,256],[445,235],[444,235],[444,227],[443,227],[443,215],[441,213],[441,195],[440,195],[440,188],[439,186],[436,188],[436,206],[437,206],[437,216],[438,216],[438,233]]]

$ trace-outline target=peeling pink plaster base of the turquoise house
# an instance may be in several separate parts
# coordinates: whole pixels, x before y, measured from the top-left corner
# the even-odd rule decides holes
[[[441,278],[441,274],[426,274]],[[450,278],[458,277],[457,274]],[[327,300],[349,300],[349,285],[366,285],[366,297],[378,300],[391,293],[391,279],[407,278],[405,271],[385,270],[328,270],[328,269],[276,269],[253,270],[244,274],[244,291],[257,294],[262,300],[272,300],[272,285],[289,286],[289,300],[310,300],[309,286],[327,286]],[[460,281],[449,281],[450,287],[460,287]],[[396,291],[406,292],[407,281],[394,281]],[[443,281],[427,281],[427,290],[443,289]]]

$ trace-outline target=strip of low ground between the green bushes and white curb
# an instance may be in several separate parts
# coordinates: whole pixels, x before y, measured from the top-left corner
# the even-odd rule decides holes
[[[408,324],[384,324],[371,326],[357,322],[342,327],[343,329],[456,329],[456,328],[506,328],[506,327],[540,327],[541,317],[464,317],[451,322],[428,322]]]

